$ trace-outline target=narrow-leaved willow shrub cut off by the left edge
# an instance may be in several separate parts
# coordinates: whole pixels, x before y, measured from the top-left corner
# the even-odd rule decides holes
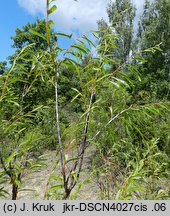
[[[24,102],[26,95],[33,91],[34,80],[29,80],[32,69],[27,74],[27,79],[21,79],[20,76],[20,72],[24,73],[25,61],[32,63],[32,66],[38,62],[35,56],[24,59],[32,46],[34,44],[24,47],[13,60],[10,69],[0,77],[0,183],[3,183],[0,196],[8,194],[4,186],[11,184],[12,189],[8,196],[13,200],[18,198],[25,171],[44,166],[44,163],[35,162],[31,156],[35,143],[41,139],[40,134],[32,130],[32,127],[36,113],[43,109],[43,105],[28,109],[29,104],[25,105]],[[19,68],[22,68],[22,71]],[[37,72],[37,69],[34,72]],[[35,74],[34,78],[36,77]],[[15,84],[18,83],[23,84],[20,95],[15,89]]]

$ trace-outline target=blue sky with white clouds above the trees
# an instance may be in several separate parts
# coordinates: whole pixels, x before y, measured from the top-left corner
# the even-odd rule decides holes
[[[97,29],[96,20],[108,19],[106,7],[110,0],[57,0],[57,11],[52,15],[54,28],[64,33],[86,33]],[[132,0],[140,15],[144,0]],[[36,17],[45,16],[46,0],[4,0],[0,7],[0,61],[14,53],[11,48],[11,36],[15,29],[28,22],[33,23]],[[62,43],[65,43],[62,41]]]

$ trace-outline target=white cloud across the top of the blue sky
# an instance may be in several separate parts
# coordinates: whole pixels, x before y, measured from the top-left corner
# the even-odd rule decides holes
[[[57,11],[52,15],[58,30],[67,32],[78,30],[86,32],[97,29],[96,21],[108,20],[106,7],[110,0],[57,0]],[[144,0],[132,0],[136,4],[137,14],[141,13]],[[31,15],[45,15],[46,0],[18,0],[21,7]]]

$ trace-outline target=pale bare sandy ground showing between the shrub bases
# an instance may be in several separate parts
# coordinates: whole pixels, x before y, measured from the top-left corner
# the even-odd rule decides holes
[[[86,153],[86,155],[89,152]],[[47,167],[38,171],[29,171],[22,179],[21,191],[18,194],[19,200],[43,200],[45,192],[47,190],[48,178],[52,173],[53,167],[56,163],[56,153],[54,151],[46,154]],[[70,199],[97,199],[97,186],[94,181],[91,180],[91,173],[88,169],[89,157],[85,156],[82,173],[80,175],[80,182],[90,180],[90,183],[85,184],[80,190],[78,186],[72,191]],[[60,169],[55,169],[56,174],[59,174]],[[5,184],[5,189],[11,194],[11,185]],[[11,199],[11,196],[7,199]]]

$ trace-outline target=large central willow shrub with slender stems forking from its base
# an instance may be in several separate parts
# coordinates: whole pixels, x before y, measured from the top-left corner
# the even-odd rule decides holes
[[[129,89],[134,89],[135,85],[133,80],[129,78],[128,72],[134,73],[140,82],[142,78],[138,72],[138,64],[120,65],[121,60],[114,59],[110,54],[110,50],[116,49],[115,41],[117,36],[113,35],[110,30],[92,32],[93,36],[95,36],[99,42],[97,45],[85,35],[75,40],[67,50],[58,47],[57,43],[52,44],[52,40],[50,40],[52,37],[52,35],[50,35],[52,21],[50,21],[48,17],[55,10],[56,7],[54,5],[50,6],[50,2],[47,1],[47,37],[44,39],[47,40],[49,44],[49,65],[51,65],[49,74],[52,75],[50,79],[55,86],[56,129],[62,175],[55,175],[55,172],[52,174],[50,180],[53,180],[53,185],[49,188],[47,196],[48,198],[57,199],[69,198],[72,190],[79,182],[86,149],[95,145],[97,148],[96,151],[99,152],[99,154],[96,154],[97,156],[94,157],[94,159],[98,158],[98,160],[100,160],[100,168],[103,167],[105,171],[103,174],[105,176],[107,176],[107,174],[112,176],[113,173],[115,176],[108,181],[111,181],[111,184],[113,183],[114,185],[114,181],[116,177],[119,176],[119,173],[122,175],[122,177],[120,175],[122,188],[125,189],[121,191],[120,188],[116,197],[126,199],[131,196],[132,198],[132,194],[126,193],[126,185],[130,183],[129,180],[126,181],[124,174],[126,173],[127,178],[130,178],[132,173],[138,170],[138,167],[140,167],[138,171],[142,173],[144,169],[141,164],[147,155],[147,151],[150,152],[149,163],[151,163],[150,158],[153,160],[152,164],[158,163],[159,160],[155,156],[155,152],[151,152],[150,148],[144,148],[146,143],[149,142],[153,142],[154,146],[157,146],[157,141],[154,141],[155,137],[148,136],[147,131],[145,132],[143,128],[146,122],[151,121],[155,113],[160,115],[162,113],[163,115],[162,110],[167,109],[168,103],[158,102],[155,104],[143,105],[131,103],[132,96],[129,93]],[[37,34],[35,32],[32,33]],[[37,34],[37,36],[40,35]],[[71,35],[61,33],[56,33],[55,36],[71,38]],[[91,48],[96,51],[96,55],[92,55]],[[156,49],[157,47],[152,47],[146,51],[152,52]],[[57,56],[62,57],[57,58]],[[137,59],[141,67],[141,63],[144,62],[144,59],[139,59],[139,57],[134,58]],[[113,64],[116,69],[111,71],[108,68]],[[75,119],[76,127],[75,124],[72,123],[64,132],[60,127],[58,94],[58,77],[62,79],[63,67],[66,67],[68,70],[70,69],[70,71],[74,68],[74,71],[77,73],[79,88],[73,89],[75,91],[75,96],[72,98],[71,103],[80,104],[82,111],[82,115],[77,115]],[[70,116],[71,115],[70,113]],[[72,136],[70,136],[71,130],[74,132]],[[63,136],[63,134],[65,136]],[[67,134],[69,134],[69,139],[67,139]],[[137,139],[139,140],[137,141]],[[67,143],[68,140],[69,144]],[[129,147],[132,148],[132,150],[130,150]],[[71,156],[69,152],[74,152],[73,156]],[[165,158],[165,166],[159,168],[160,172],[163,174],[164,169],[167,167],[167,161],[166,157],[162,158]],[[98,166],[98,164],[96,164],[96,166]],[[113,167],[113,170],[111,167]],[[155,171],[149,168],[148,170],[144,171],[147,173],[146,176],[152,176],[152,174],[155,173]],[[102,174],[100,170],[98,170],[98,173],[99,175]],[[144,177],[145,175],[143,174],[141,178],[144,179]],[[55,180],[56,184],[54,184]],[[52,183],[49,181],[48,185]],[[102,184],[105,187],[105,183]],[[139,182],[136,181],[136,184],[139,184]],[[108,185],[108,182],[106,182],[106,185]],[[138,189],[140,189],[140,187],[138,187]],[[107,192],[108,191],[110,191],[110,188]],[[107,198],[110,198],[110,195],[108,195]]]

